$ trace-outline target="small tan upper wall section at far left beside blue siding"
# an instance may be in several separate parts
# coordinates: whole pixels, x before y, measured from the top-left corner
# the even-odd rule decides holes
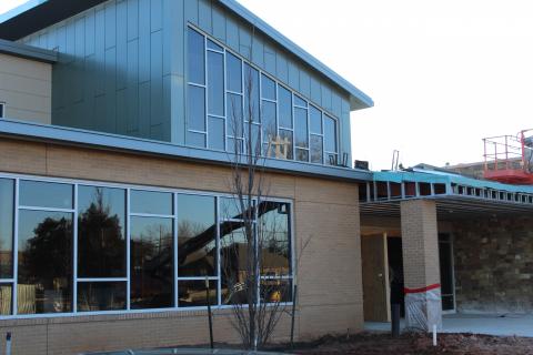
[[[6,118],[50,124],[52,65],[0,53],[0,102]]]

